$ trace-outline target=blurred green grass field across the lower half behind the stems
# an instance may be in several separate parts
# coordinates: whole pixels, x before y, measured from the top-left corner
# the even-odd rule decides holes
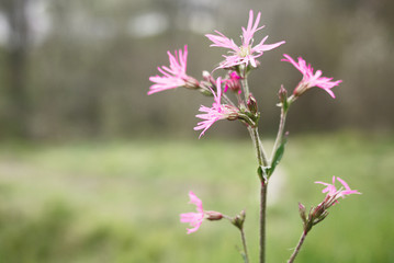
[[[271,141],[266,141],[267,150]],[[0,149],[1,262],[241,262],[226,221],[185,235],[188,192],[205,209],[247,211],[257,262],[258,180],[249,141],[135,140],[3,144]],[[285,262],[301,235],[297,202],[318,204],[314,181],[341,176],[362,192],[331,208],[299,262],[394,262],[394,137],[354,133],[290,137],[272,182],[268,262]]]

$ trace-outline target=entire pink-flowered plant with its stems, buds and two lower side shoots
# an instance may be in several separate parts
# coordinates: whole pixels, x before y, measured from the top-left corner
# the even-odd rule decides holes
[[[264,52],[274,49],[283,45],[285,42],[282,41],[274,44],[266,44],[268,36],[264,36],[257,45],[254,45],[255,33],[264,27],[263,25],[259,25],[260,19],[260,12],[257,13],[255,20],[254,11],[250,10],[248,24],[246,27],[241,27],[241,44],[239,46],[236,45],[232,38],[228,38],[218,31],[215,31],[216,34],[205,35],[212,42],[212,47],[223,47],[228,49],[227,55],[223,55],[225,59],[219,62],[218,67],[213,70],[213,72],[217,72],[217,69],[227,70],[225,75],[226,77],[214,78],[213,72],[210,73],[207,71],[203,71],[203,80],[201,81],[190,77],[187,73],[188,46],[184,46],[183,49],[176,50],[173,55],[170,52],[167,53],[169,58],[169,67],[158,67],[158,71],[161,73],[161,76],[157,75],[149,78],[154,84],[150,85],[148,94],[183,87],[187,89],[200,91],[204,95],[213,96],[212,106],[209,107],[201,105],[199,108],[200,113],[195,115],[201,119],[194,127],[194,130],[201,130],[199,138],[201,138],[205,132],[217,121],[241,121],[247,126],[255,145],[257,153],[256,156],[259,163],[257,171],[261,180],[261,210],[266,210],[267,182],[280,162],[283,156],[284,146],[286,144],[288,133],[284,129],[284,124],[290,105],[305,91],[313,87],[318,87],[325,90],[331,98],[335,98],[331,89],[338,85],[341,80],[333,81],[333,78],[322,77],[322,70],[314,72],[311,64],[306,64],[302,57],[299,57],[297,61],[295,61],[288,54],[283,54],[284,58],[281,60],[293,65],[303,77],[293,90],[293,94],[291,96],[288,98],[288,91],[283,88],[283,85],[281,85],[281,89],[279,90],[280,103],[277,105],[281,107],[280,125],[271,157],[268,158],[268,156],[266,156],[264,149],[262,148],[261,139],[258,133],[258,122],[260,119],[258,103],[256,98],[249,91],[247,77],[251,70],[260,65],[257,58],[259,58]],[[228,90],[232,92],[226,93]],[[234,103],[230,98],[236,98],[237,102]],[[338,181],[342,186],[337,188],[335,186],[336,181]],[[339,198],[344,198],[350,194],[360,194],[357,190],[351,190],[349,185],[340,178],[334,176],[333,184],[324,182],[315,183],[326,186],[323,190],[323,193],[326,193],[326,196],[320,204],[318,204],[316,207],[312,207],[308,213],[305,211],[305,206],[300,203],[299,210],[303,220],[304,232],[289,262],[293,262],[294,258],[300,251],[306,233],[312,229],[312,227],[327,217],[328,208],[337,204]],[[245,262],[249,262],[246,249],[245,232],[243,228],[245,221],[245,210],[243,210],[236,217],[230,218],[218,211],[204,210],[201,199],[198,198],[193,192],[189,192],[189,197],[190,203],[195,205],[196,211],[184,213],[180,215],[181,222],[190,224],[188,233],[195,232],[205,219],[228,219],[240,230],[244,244],[243,256]],[[266,214],[261,213],[260,262],[263,262],[264,256],[264,217]]]

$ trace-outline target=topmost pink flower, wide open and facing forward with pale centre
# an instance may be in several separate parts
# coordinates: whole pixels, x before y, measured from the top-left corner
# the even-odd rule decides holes
[[[237,46],[233,39],[226,37],[221,32],[215,31],[217,35],[207,34],[205,35],[210,41],[213,42],[211,46],[216,47],[225,47],[230,49],[229,56],[223,56],[225,60],[217,67],[217,68],[229,68],[237,65],[245,64],[246,66],[250,65],[252,67],[257,67],[256,58],[260,57],[263,52],[271,50],[273,48],[279,47],[280,45],[284,44],[285,42],[278,42],[275,44],[264,45],[268,36],[262,38],[262,41],[257,44],[256,46],[251,46],[254,43],[254,35],[256,32],[261,30],[264,26],[259,26],[261,13],[257,14],[256,21],[254,23],[254,11],[249,11],[249,21],[248,26],[245,28],[243,27],[243,44]]]

